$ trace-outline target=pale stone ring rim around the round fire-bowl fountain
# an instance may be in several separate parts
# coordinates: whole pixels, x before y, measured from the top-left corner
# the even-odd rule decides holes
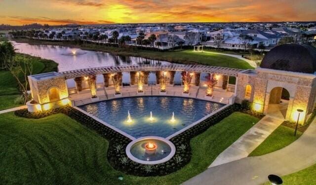
[[[134,155],[132,155],[132,153],[130,152],[130,149],[135,143],[143,141],[143,140],[151,140],[151,139],[159,140],[159,141],[162,141],[162,142],[168,144],[169,147],[171,148],[170,153],[166,157],[164,157],[160,160],[156,160],[156,161],[144,161],[144,160],[140,160],[140,159],[134,157]],[[126,147],[125,152],[126,152],[127,157],[132,161],[135,161],[135,162],[140,163],[140,164],[154,165],[154,164],[164,163],[164,162],[167,162],[168,160],[170,160],[174,156],[174,154],[176,153],[176,148],[171,141],[169,141],[165,138],[158,137],[158,136],[145,136],[145,137],[137,138],[136,140],[133,140],[132,142],[130,142]]]

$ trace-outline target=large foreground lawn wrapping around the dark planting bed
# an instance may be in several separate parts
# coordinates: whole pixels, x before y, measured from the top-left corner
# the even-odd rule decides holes
[[[257,121],[235,112],[191,140],[192,159],[181,170],[135,177],[109,165],[107,140],[64,114],[41,119],[0,114],[0,184],[180,184],[207,169]]]

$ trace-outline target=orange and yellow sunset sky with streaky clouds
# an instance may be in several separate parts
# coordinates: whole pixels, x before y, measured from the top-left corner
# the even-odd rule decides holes
[[[316,21],[316,0],[0,0],[0,24]]]

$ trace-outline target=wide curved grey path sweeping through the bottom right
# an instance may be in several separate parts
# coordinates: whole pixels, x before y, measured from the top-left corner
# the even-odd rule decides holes
[[[284,176],[316,163],[316,119],[289,146],[262,156],[246,157],[209,168],[185,185],[260,185],[269,174]]]

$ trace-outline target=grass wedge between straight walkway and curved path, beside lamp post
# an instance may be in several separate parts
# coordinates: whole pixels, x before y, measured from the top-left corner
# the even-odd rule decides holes
[[[297,131],[296,136],[294,136],[294,129],[280,125],[249,156],[264,155],[284,148],[297,140],[301,135],[302,132]]]

